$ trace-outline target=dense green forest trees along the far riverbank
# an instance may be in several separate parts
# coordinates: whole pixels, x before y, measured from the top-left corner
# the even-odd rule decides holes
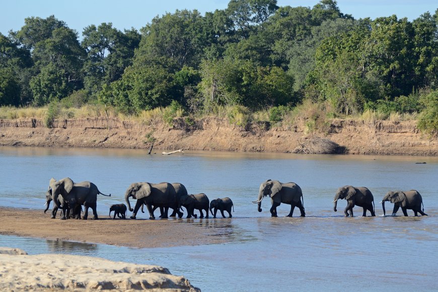
[[[130,115],[233,106],[278,121],[307,102],[329,117],[420,113],[433,131],[437,88],[438,9],[412,22],[357,20],[334,0],[313,8],[231,0],[205,15],[157,16],[140,31],[92,24],[80,38],[50,16],[0,33],[0,106],[93,103]]]

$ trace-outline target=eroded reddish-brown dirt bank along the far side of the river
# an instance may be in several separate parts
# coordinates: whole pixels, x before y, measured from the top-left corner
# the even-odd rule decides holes
[[[326,137],[345,147],[347,154],[437,156],[438,139],[424,135],[415,121],[333,120]],[[310,135],[304,126],[275,127],[268,123],[247,128],[227,119],[176,119],[132,122],[110,118],[56,120],[53,128],[39,119],[0,119],[0,145],[37,147],[87,147],[235,152],[293,152]]]

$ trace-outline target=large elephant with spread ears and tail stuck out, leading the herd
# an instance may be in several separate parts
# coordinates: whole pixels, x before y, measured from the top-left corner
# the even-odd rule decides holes
[[[77,205],[83,205],[85,208],[84,220],[88,219],[88,208],[93,210],[94,219],[98,219],[96,211],[97,195],[101,194],[110,197],[111,194],[105,195],[99,191],[97,186],[89,181],[74,183],[70,178],[66,177],[60,180],[52,178],[49,182],[49,187],[52,191],[52,200],[56,207],[61,208],[56,199],[61,195],[64,201],[70,208],[70,214],[75,213]],[[63,216],[61,219],[65,219]]]

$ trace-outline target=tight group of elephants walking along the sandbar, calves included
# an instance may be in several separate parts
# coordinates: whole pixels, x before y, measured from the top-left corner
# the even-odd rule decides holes
[[[84,206],[84,216],[83,219],[88,218],[88,209],[93,210],[94,219],[98,219],[96,211],[97,195],[101,194],[107,196],[99,191],[97,186],[92,182],[80,182],[74,183],[70,178],[63,178],[60,180],[55,180],[52,178],[49,182],[49,189],[46,192],[46,212],[50,206],[50,202],[53,201],[53,209],[51,212],[51,217],[55,218],[58,209],[61,209],[61,219],[65,220],[67,218],[81,218],[82,206]],[[109,194],[108,196],[111,196]],[[136,199],[135,207],[132,209],[129,202],[129,197]],[[127,209],[132,213],[131,219],[136,218],[138,210],[141,208],[143,211],[143,205],[146,205],[149,211],[149,217],[154,219],[154,211],[160,208],[161,218],[168,218],[169,208],[173,209],[171,217],[183,216],[181,211],[182,207],[187,210],[187,218],[192,216],[197,218],[197,214],[194,210],[197,209],[200,212],[200,218],[204,217],[203,210],[205,210],[205,217],[208,218],[208,209],[210,210],[213,218],[216,217],[217,210],[221,211],[222,216],[225,218],[224,211],[228,212],[231,218],[231,209],[233,208],[233,201],[230,198],[217,198],[209,200],[208,197],[201,194],[188,194],[187,189],[181,183],[148,183],[148,182],[138,182],[132,183],[125,193],[125,200],[128,204],[114,204],[110,207],[111,212],[114,211],[114,217],[116,215],[119,218],[125,218]]]

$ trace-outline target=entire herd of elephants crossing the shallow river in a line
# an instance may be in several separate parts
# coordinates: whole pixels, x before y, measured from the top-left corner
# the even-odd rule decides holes
[[[63,178],[56,181],[51,179],[49,183],[49,189],[46,193],[46,212],[49,208],[50,202],[53,200],[54,206],[52,209],[51,217],[56,217],[56,212],[61,209],[61,219],[66,218],[81,218],[82,206],[84,206],[84,216],[83,219],[88,218],[88,208],[92,208],[94,219],[97,219],[96,211],[96,201],[97,195],[102,194],[97,186],[91,182],[80,182],[74,183],[70,178]],[[108,196],[111,196],[109,194]],[[287,215],[291,217],[293,215],[295,207],[298,207],[301,212],[301,216],[305,217],[306,213],[304,210],[304,198],[303,192],[296,183],[281,183],[277,180],[267,180],[260,185],[258,198],[253,203],[258,204],[258,211],[261,212],[261,202],[265,196],[271,198],[272,206],[270,208],[270,213],[272,217],[277,217],[277,207],[283,203],[290,205],[290,212]],[[136,199],[135,207],[132,209],[129,197]],[[363,208],[362,216],[367,215],[367,210],[371,212],[372,216],[375,216],[374,208],[374,197],[371,191],[366,187],[353,187],[353,186],[343,186],[338,188],[336,195],[334,197],[333,210],[336,210],[337,201],[339,199],[345,199],[347,201],[347,206],[344,209],[345,217],[353,216],[353,207],[355,205]],[[170,217],[183,216],[181,211],[182,207],[187,210],[187,218],[192,216],[197,218],[194,210],[197,209],[200,212],[200,218],[204,217],[203,210],[205,210],[205,217],[208,218],[208,209],[210,210],[213,217],[216,217],[217,210],[221,211],[222,216],[225,218],[224,211],[228,212],[231,218],[231,210],[233,206],[233,201],[230,198],[217,198],[209,200],[208,197],[203,194],[188,194],[185,186],[181,183],[148,183],[148,182],[138,182],[132,183],[125,192],[125,200],[128,204],[115,204],[110,207],[111,212],[114,211],[114,217],[116,215],[119,218],[125,218],[127,209],[132,213],[131,219],[136,218],[138,210],[141,208],[143,211],[143,205],[147,206],[149,211],[149,217],[155,218],[154,211],[160,208],[160,217],[168,218],[169,208],[173,209]],[[407,216],[407,209],[414,211],[414,215],[417,213],[421,215],[426,215],[424,213],[424,206],[421,195],[416,190],[410,191],[390,191],[382,199],[382,208],[384,215],[385,202],[391,201],[394,203],[394,209],[392,215],[395,216],[398,209],[401,207],[403,214]],[[214,210],[214,211],[213,211]]]

